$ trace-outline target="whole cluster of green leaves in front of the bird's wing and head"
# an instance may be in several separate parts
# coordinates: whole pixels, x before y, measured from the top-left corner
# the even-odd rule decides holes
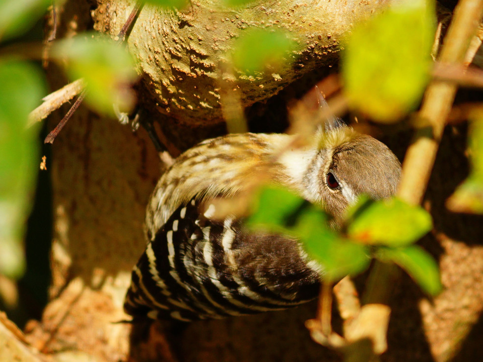
[[[329,226],[319,207],[288,190],[263,187],[248,226],[297,237],[322,267],[325,281],[359,274],[376,257],[402,267],[426,293],[441,290],[436,262],[411,245],[431,229],[431,216],[398,199],[372,201],[361,196],[348,210],[347,233],[340,233]]]

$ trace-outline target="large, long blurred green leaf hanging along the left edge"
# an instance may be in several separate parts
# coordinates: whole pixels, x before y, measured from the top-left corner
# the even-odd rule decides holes
[[[27,118],[45,94],[43,74],[25,61],[0,59],[0,274],[19,278],[23,236],[40,162],[38,126]]]

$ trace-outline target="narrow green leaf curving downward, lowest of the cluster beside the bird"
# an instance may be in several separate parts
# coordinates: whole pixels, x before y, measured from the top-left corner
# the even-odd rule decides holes
[[[391,261],[403,268],[430,295],[442,290],[439,268],[433,257],[418,245],[403,248],[379,248],[376,257]]]

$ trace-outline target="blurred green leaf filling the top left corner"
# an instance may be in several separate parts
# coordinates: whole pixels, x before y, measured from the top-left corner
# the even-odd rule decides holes
[[[22,35],[45,13],[51,0],[2,0],[0,40]]]

